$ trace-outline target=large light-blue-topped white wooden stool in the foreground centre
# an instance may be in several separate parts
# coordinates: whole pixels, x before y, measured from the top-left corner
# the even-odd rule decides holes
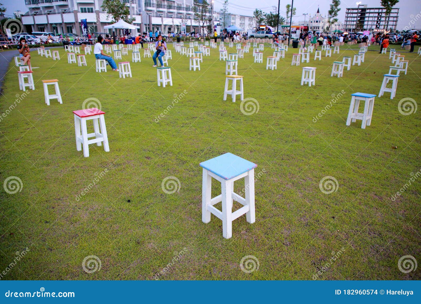
[[[202,180],[202,221],[210,222],[210,213],[222,220],[222,235],[232,237],[232,221],[246,214],[247,222],[256,221],[254,209],[254,168],[256,164],[242,159],[232,153],[225,153],[213,159],[200,163],[203,167]],[[221,194],[212,198],[212,177],[221,182]],[[245,198],[234,193],[234,181],[244,177]],[[232,212],[232,202],[243,205]],[[222,212],[213,205],[222,201]]]

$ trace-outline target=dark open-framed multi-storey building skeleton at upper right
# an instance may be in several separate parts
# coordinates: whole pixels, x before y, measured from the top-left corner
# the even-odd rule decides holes
[[[399,8],[392,8],[389,16],[385,8],[368,8],[358,5],[357,8],[347,8],[345,12],[344,30],[347,32],[386,30],[396,31],[399,18]]]

